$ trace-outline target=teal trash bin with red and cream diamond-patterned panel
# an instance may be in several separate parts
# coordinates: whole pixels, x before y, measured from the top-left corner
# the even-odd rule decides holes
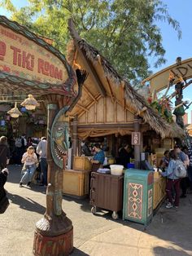
[[[128,169],[124,172],[123,219],[145,226],[153,216],[153,183],[151,170]]]

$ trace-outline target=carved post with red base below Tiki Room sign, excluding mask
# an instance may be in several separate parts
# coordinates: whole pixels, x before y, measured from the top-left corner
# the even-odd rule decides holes
[[[55,165],[50,152],[50,127],[57,113],[57,105],[48,105],[48,186],[46,189],[46,213],[36,223],[33,242],[35,255],[68,255],[73,248],[72,221],[62,210],[63,170]],[[66,157],[63,157],[66,166]]]

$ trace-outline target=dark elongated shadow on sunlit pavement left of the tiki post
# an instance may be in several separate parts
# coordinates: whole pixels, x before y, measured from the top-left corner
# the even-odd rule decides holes
[[[36,201],[26,197],[25,199],[22,196],[11,194],[7,192],[7,196],[12,204],[19,205],[21,209],[28,210],[30,212],[36,212],[39,214],[45,214],[46,208],[42,205],[39,205]]]

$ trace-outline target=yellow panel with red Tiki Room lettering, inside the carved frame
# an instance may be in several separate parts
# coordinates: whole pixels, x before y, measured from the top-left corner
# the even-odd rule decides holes
[[[37,82],[61,84],[68,79],[57,56],[0,24],[0,72]]]

